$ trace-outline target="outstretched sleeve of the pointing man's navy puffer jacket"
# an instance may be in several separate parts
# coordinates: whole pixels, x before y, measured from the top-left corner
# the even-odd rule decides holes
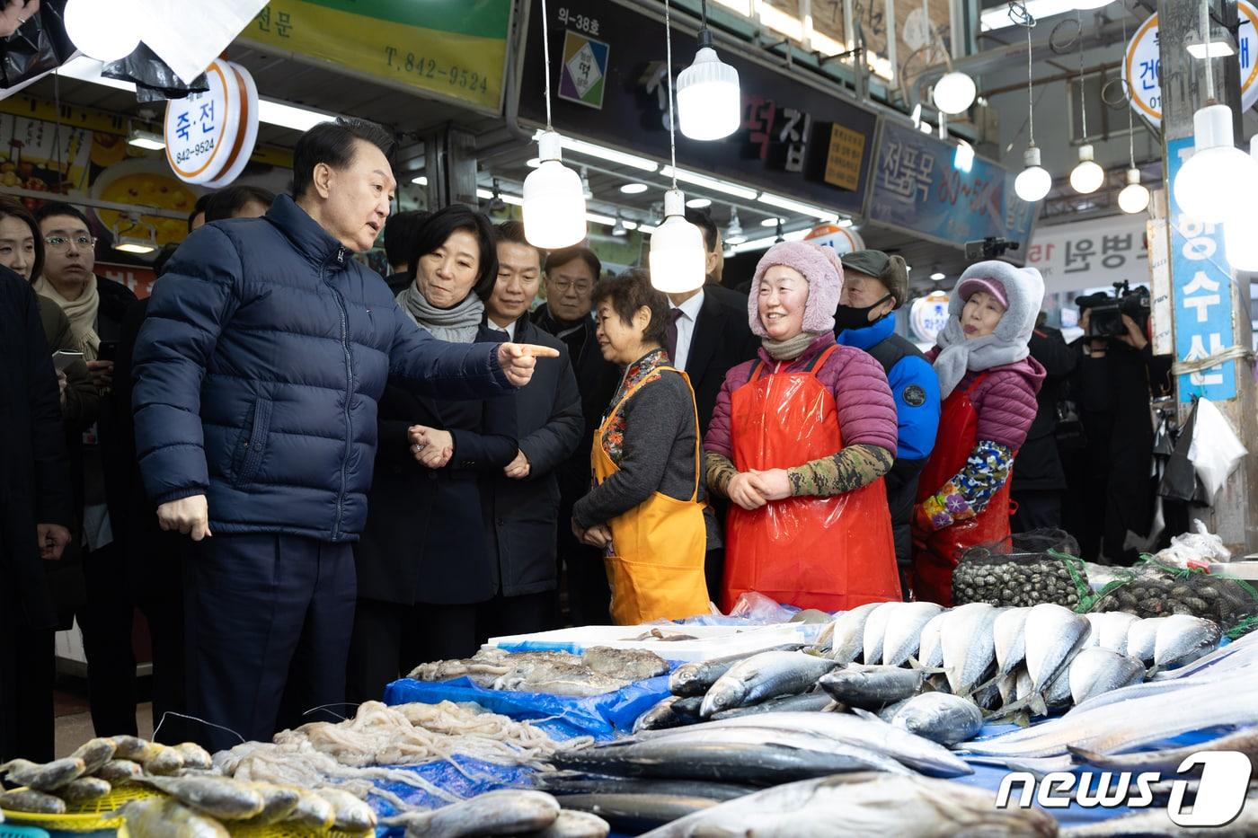
[[[435,399],[492,399],[512,390],[498,364],[498,344],[450,344],[420,328],[394,303],[389,371]],[[545,361],[542,361],[545,362]]]

